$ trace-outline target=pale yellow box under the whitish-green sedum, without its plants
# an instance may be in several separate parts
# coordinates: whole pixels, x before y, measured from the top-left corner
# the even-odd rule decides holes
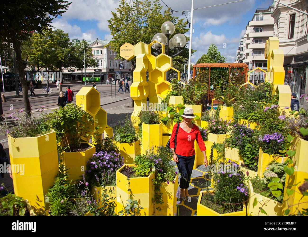
[[[281,215],[282,210],[282,203],[279,203],[277,201],[274,201],[273,199],[267,198],[262,196],[261,194],[255,193],[253,191],[252,184],[249,180],[249,203],[248,203],[248,214],[249,215],[265,215],[261,213],[259,207],[262,207],[263,204],[265,204],[262,209],[267,213],[267,215]],[[257,198],[257,205],[253,207],[253,201]],[[259,212],[260,211],[260,212]]]

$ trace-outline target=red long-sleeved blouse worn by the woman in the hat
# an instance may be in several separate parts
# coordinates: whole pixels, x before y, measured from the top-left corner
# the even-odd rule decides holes
[[[170,138],[170,148],[174,148],[174,138],[176,133],[177,124],[173,126],[172,134]],[[176,151],[177,155],[193,156],[195,152],[195,140],[197,140],[198,146],[201,151],[205,151],[205,145],[201,137],[200,130],[197,125],[194,124],[192,130],[187,133],[179,126],[179,131],[176,137]]]

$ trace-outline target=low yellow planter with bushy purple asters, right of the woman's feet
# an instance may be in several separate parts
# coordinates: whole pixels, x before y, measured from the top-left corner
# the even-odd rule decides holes
[[[249,197],[244,183],[244,174],[235,162],[222,162],[236,172],[225,172],[224,168],[213,173],[213,190],[201,191],[197,204],[197,215],[247,215],[245,203]],[[231,169],[230,169],[231,170]]]

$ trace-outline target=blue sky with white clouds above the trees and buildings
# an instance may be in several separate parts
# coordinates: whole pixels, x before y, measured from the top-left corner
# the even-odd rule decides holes
[[[194,0],[194,8],[213,6],[236,0]],[[107,20],[111,11],[119,5],[119,0],[71,0],[72,4],[62,17],[55,18],[53,26],[69,33],[71,39],[111,40]],[[173,10],[191,9],[191,0],[163,0]],[[239,40],[244,35],[249,22],[257,8],[265,8],[272,4],[271,0],[244,0],[222,6],[214,6],[194,10],[194,34],[192,47],[198,50],[196,61],[207,52],[209,45],[215,43],[221,54],[227,57],[227,62],[233,62]],[[163,10],[165,5],[161,2]],[[186,15],[189,13],[186,12]],[[181,13],[175,16],[184,17]],[[190,20],[190,18],[189,18]],[[186,34],[189,36],[189,31]],[[224,44],[226,48],[224,48]],[[187,45],[188,47],[188,45]],[[192,56],[192,62],[195,57]]]

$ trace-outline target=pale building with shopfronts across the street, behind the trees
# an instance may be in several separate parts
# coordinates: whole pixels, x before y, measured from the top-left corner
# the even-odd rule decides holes
[[[72,42],[80,42],[78,39],[73,39]],[[96,38],[96,40],[87,41],[89,44],[88,47],[92,49],[93,58],[97,62],[96,67],[86,68],[86,78],[89,81],[100,82],[106,81],[107,78],[115,78],[115,74],[119,73],[120,77],[128,77],[130,75],[130,67],[131,62],[127,60],[115,59],[116,52],[112,51],[110,48],[107,48],[108,40],[101,40]],[[120,62],[124,62],[124,69],[120,70]],[[64,80],[75,80],[81,81],[84,78],[84,70],[83,75],[81,76],[81,70],[71,70],[64,69],[63,70],[63,79]]]

